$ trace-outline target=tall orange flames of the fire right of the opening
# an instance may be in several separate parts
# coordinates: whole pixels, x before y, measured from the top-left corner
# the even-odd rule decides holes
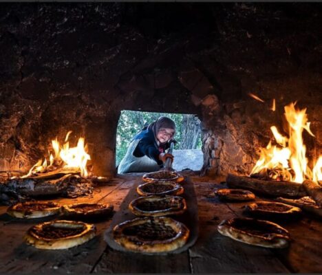
[[[284,107],[289,137],[281,135],[276,126],[271,126],[270,130],[279,147],[269,142],[266,148],[262,148],[251,175],[266,175],[271,179],[298,183],[302,183],[305,179],[316,182],[322,180],[322,156],[319,157],[313,170],[308,166],[308,159],[305,157],[303,130],[314,136],[310,130],[306,109],[297,110],[295,104],[291,103]]]

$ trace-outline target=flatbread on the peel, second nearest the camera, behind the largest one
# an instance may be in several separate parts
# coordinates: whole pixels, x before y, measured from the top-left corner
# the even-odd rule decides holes
[[[186,200],[177,196],[148,196],[133,199],[129,210],[137,216],[161,217],[182,214],[186,211]]]

